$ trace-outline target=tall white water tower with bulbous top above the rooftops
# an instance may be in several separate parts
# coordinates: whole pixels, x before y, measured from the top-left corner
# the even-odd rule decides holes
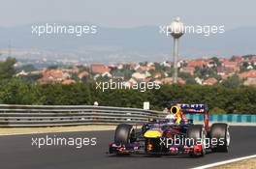
[[[174,37],[174,83],[177,83],[177,57],[178,57],[178,38],[184,34],[184,25],[179,17],[176,17],[168,28]]]

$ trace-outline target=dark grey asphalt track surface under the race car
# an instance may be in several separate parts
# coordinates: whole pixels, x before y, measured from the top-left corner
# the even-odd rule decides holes
[[[58,137],[97,137],[96,146],[43,147],[31,146],[32,137],[47,134],[0,136],[1,169],[156,169],[191,168],[244,155],[256,154],[256,127],[230,127],[229,153],[208,153],[199,158],[188,155],[107,155],[113,131],[51,133]],[[256,166],[255,166],[256,167]]]

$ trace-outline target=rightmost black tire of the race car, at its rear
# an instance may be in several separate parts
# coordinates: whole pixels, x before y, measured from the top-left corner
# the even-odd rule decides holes
[[[224,123],[212,124],[210,127],[210,138],[211,140],[217,139],[217,145],[211,146],[212,152],[228,152],[230,145],[230,132],[229,126]],[[220,142],[220,139],[222,141]]]

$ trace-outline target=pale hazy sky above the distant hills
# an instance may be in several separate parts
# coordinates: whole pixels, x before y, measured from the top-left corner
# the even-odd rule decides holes
[[[256,26],[256,1],[224,0],[1,0],[0,26],[37,22],[91,22],[106,27],[135,27],[171,22],[226,28]]]

